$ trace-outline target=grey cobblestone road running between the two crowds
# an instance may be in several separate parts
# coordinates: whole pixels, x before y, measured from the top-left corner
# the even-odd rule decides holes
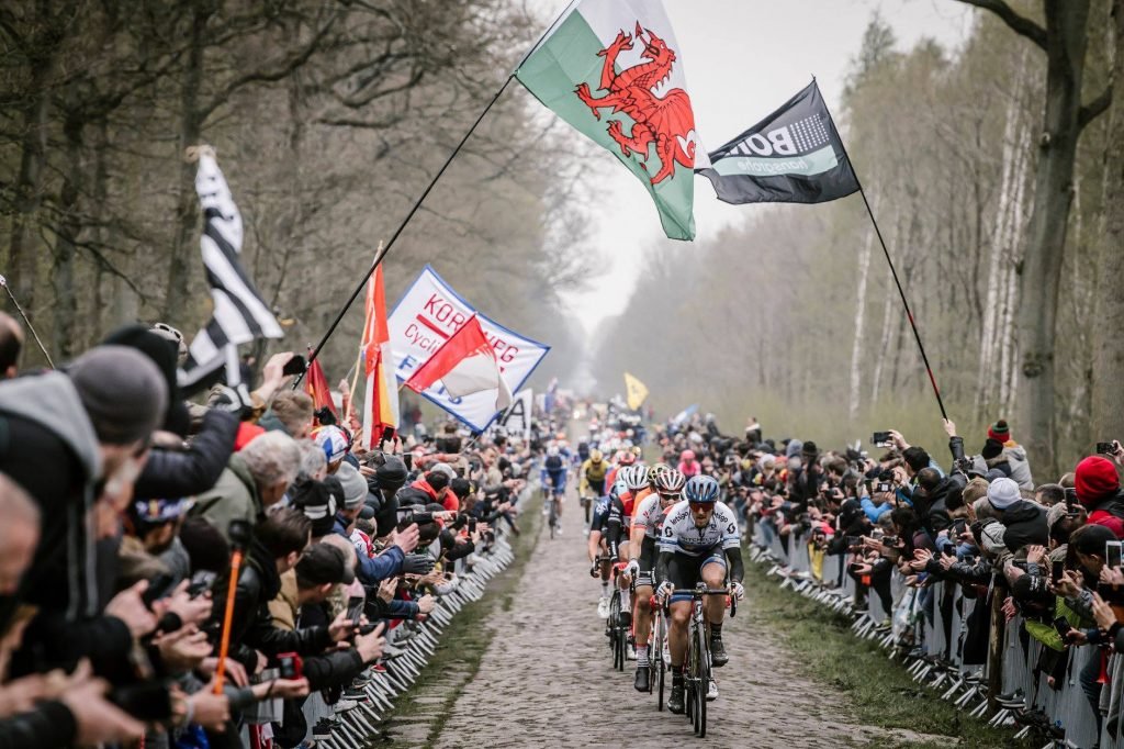
[[[798,676],[792,656],[778,651],[746,601],[725,626],[729,664],[717,670],[720,696],[710,703],[707,738],[696,739],[685,716],[659,713],[654,696],[633,691],[631,669],[611,669],[597,617],[599,586],[587,574],[580,506],[571,497],[565,509],[564,534],[551,540],[541,531],[514,605],[491,615],[496,635],[436,747],[826,748],[930,738],[841,727],[844,698]]]

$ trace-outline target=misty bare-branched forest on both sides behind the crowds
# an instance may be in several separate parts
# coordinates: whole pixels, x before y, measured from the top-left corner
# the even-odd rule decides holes
[[[900,49],[876,16],[855,51],[835,119],[970,450],[1000,416],[1062,466],[1124,436],[1108,385],[1124,355],[1124,326],[1111,322],[1124,314],[1113,294],[1124,96],[1109,96],[1120,3],[972,2],[1009,13],[979,11],[955,54],[931,40]],[[126,322],[192,335],[209,300],[182,153],[207,142],[244,216],[243,261],[290,323],[270,348],[315,343],[541,25],[515,0],[6,3],[3,272],[56,360]],[[1052,306],[1024,270],[1028,245],[1042,249],[1033,218],[1059,38],[1081,45],[1085,109],[1068,213],[1051,214],[1064,241],[1046,247],[1059,265],[1046,273],[1052,348],[1034,364],[1051,369],[1043,407],[1023,381],[1019,310]],[[563,297],[604,272],[611,249],[595,245],[570,187],[614,168],[513,87],[389,255],[388,299],[434,264],[482,310],[553,346],[538,386],[584,367],[604,397],[628,370],[658,413],[700,403],[731,431],[752,414],[771,434],[825,445],[889,426],[943,442],[858,197],[759,206],[711,241],[650,247],[625,313],[583,340]],[[697,191],[711,199],[704,181]],[[354,364],[362,318],[359,305],[324,353],[333,381]],[[42,363],[34,346],[26,359]]]

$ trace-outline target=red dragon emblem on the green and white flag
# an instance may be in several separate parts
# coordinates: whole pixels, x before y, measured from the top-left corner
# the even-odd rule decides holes
[[[641,58],[645,62],[616,72],[617,55],[632,49],[634,40],[644,45]],[[682,89],[671,89],[663,97],[656,94],[660,84],[671,78],[676,51],[651,29],[642,28],[637,21],[635,36],[622,29],[613,44],[597,54],[605,57],[599,90],[607,93],[599,99],[593,98],[586,83],[579,83],[575,93],[597,119],[601,118],[599,109],[609,108],[613,114],[624,112],[633,119],[628,135],[625,135],[623,120],[609,121],[609,136],[620,146],[620,153],[626,157],[636,153],[646,164],[649,146],[655,143],[660,171],[654,175],[649,171],[652,184],[672,177],[676,162],[694,169],[698,136],[695,133],[695,112],[691,110],[690,97]]]

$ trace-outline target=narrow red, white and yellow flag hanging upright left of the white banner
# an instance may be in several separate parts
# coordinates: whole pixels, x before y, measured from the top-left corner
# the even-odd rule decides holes
[[[374,450],[383,427],[398,428],[398,382],[395,357],[387,328],[387,292],[382,286],[382,265],[366,283],[366,323],[363,325],[363,446]]]

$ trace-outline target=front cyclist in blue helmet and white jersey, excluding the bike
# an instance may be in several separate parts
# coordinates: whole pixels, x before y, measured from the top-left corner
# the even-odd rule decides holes
[[[691,616],[691,598],[672,595],[688,590],[700,580],[708,588],[722,588],[729,578],[731,595],[741,601],[745,596],[742,579],[741,538],[734,511],[718,502],[718,481],[710,476],[692,476],[683,486],[683,500],[668,511],[660,534],[660,556],[655,577],[661,603],[670,599],[671,625],[668,649],[671,651],[671,696],[668,710],[682,713],[683,657],[687,652],[687,629]],[[710,630],[710,660],[715,668],[729,660],[722,642],[722,622],[726,602],[720,596],[708,596],[703,613]],[[717,684],[707,687],[707,700],[718,696]]]

